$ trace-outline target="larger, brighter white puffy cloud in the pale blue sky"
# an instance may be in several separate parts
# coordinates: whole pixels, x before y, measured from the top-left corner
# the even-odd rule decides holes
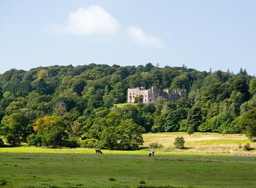
[[[51,30],[68,32],[72,35],[113,35],[119,24],[101,6],[91,5],[88,8],[78,8],[71,12],[64,26],[54,26]]]

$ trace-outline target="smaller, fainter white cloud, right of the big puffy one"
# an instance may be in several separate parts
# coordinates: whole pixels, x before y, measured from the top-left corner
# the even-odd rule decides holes
[[[148,35],[141,28],[131,26],[127,28],[127,33],[130,38],[140,46],[153,46],[160,48],[164,45],[163,41],[159,37]]]

